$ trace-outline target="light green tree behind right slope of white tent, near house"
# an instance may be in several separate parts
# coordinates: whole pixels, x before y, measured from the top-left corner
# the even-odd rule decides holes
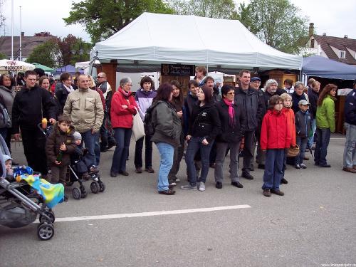
[[[308,18],[289,0],[252,0],[239,6],[239,20],[269,46],[299,53],[308,38]]]

